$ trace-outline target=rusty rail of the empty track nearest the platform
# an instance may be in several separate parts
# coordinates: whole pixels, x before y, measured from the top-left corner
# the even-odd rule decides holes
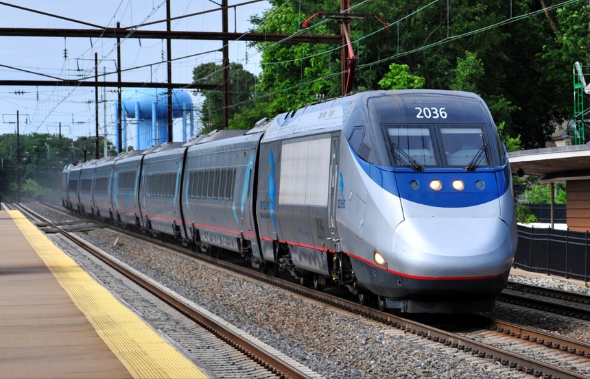
[[[207,330],[210,334],[223,341],[226,345],[230,345],[234,347],[235,354],[231,354],[231,357],[226,357],[227,359],[231,360],[231,366],[233,366],[233,371],[236,371],[233,374],[235,378],[243,378],[243,377],[257,377],[257,378],[319,378],[320,376],[313,371],[303,367],[303,365],[299,365],[294,360],[283,356],[276,350],[261,344],[257,343],[257,341],[252,341],[252,339],[245,334],[233,328],[224,321],[217,319],[214,315],[210,315],[207,312],[203,312],[202,310],[196,308],[196,304],[190,304],[185,299],[178,297],[175,293],[171,293],[165,287],[161,286],[156,282],[153,282],[149,278],[141,275],[134,269],[127,267],[126,265],[121,265],[121,262],[115,260],[114,258],[108,256],[108,254],[103,254],[100,250],[96,249],[92,245],[86,243],[83,239],[80,239],[78,236],[71,234],[71,232],[67,232],[60,228],[60,226],[52,223],[49,219],[39,215],[38,213],[30,210],[29,208],[19,205],[19,204],[10,204],[6,206],[9,209],[13,210],[20,210],[23,214],[27,215],[27,217],[32,218],[36,221],[36,223],[42,225],[43,227],[51,228],[52,232],[58,232],[64,238],[68,239],[71,243],[77,245],[78,247],[84,249],[86,252],[92,254],[99,260],[102,260],[106,265],[112,267],[119,273],[121,273],[126,278],[132,280],[132,282],[138,284],[147,292],[151,293],[152,295],[161,299],[165,304],[168,304],[172,308],[181,313],[185,317],[188,317],[192,321],[198,323],[198,325]],[[220,349],[215,349],[215,356],[216,360],[223,359],[223,355],[220,354]],[[226,350],[225,350],[226,351]],[[237,359],[236,356],[240,356],[241,359]],[[199,359],[202,362],[202,358]],[[231,375],[228,375],[227,368],[224,367],[223,363],[215,363],[215,365],[219,365],[222,367],[224,371],[223,377],[228,378]],[[243,369],[240,369],[242,367]],[[207,367],[211,371],[215,372],[215,367]]]

